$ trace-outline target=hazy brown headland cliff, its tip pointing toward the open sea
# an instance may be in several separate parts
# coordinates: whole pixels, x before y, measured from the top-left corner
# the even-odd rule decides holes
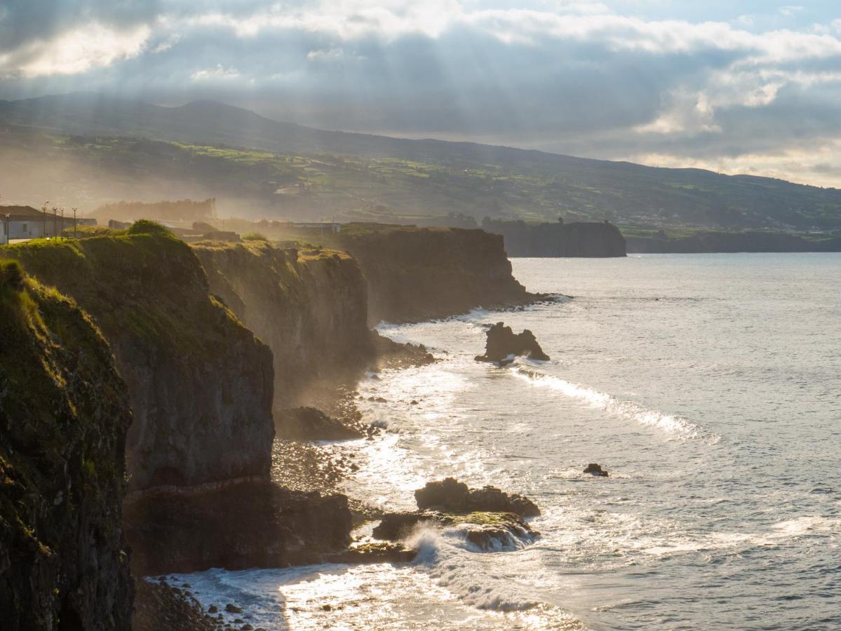
[[[336,237],[368,281],[368,323],[444,318],[536,298],[483,230],[348,224]]]

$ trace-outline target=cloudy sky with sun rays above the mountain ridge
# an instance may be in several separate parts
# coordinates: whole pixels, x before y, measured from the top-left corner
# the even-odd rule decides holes
[[[0,0],[0,99],[77,91],[841,187],[838,0]]]

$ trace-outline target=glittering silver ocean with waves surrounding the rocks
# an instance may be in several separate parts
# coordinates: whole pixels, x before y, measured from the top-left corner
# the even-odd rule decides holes
[[[841,255],[512,263],[556,299],[383,323],[441,360],[364,381],[386,430],[324,449],[360,467],[344,491],[391,510],[444,476],[523,493],[536,543],[426,530],[407,565],[178,578],[267,629],[841,628]],[[474,361],[499,321],[551,360]]]

